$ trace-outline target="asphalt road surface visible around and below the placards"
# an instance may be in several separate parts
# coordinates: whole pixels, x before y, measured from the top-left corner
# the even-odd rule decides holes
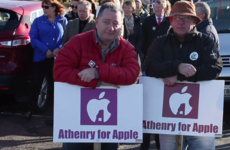
[[[45,124],[52,116],[52,103],[43,114],[35,115],[31,121],[25,120],[25,104],[14,102],[13,98],[0,99],[0,150],[61,150],[61,143],[52,142],[53,127]],[[230,102],[225,102],[223,117],[223,137],[216,139],[216,150],[230,149]],[[139,144],[123,144],[119,150],[139,150]],[[151,150],[156,150],[151,141]]]

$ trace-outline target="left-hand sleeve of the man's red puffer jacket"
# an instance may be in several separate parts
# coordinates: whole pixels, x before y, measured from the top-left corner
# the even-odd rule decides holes
[[[54,81],[95,88],[98,84],[97,79],[93,79],[91,82],[84,82],[78,76],[78,73],[81,71],[78,69],[81,60],[80,43],[78,37],[72,38],[58,52],[58,56],[54,61]]]

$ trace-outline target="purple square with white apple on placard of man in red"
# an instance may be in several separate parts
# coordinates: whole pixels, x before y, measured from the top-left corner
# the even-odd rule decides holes
[[[81,125],[117,125],[117,89],[81,89]]]

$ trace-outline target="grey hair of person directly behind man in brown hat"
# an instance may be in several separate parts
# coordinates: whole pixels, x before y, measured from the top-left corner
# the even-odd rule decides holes
[[[209,19],[210,18],[211,10],[210,10],[210,7],[208,6],[207,3],[205,3],[205,2],[196,2],[195,6],[196,6],[196,11],[198,12],[198,14],[205,14],[204,19]]]

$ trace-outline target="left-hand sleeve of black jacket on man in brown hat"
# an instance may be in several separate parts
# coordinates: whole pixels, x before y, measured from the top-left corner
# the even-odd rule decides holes
[[[166,38],[166,37],[165,37]],[[145,73],[147,76],[166,78],[178,73],[179,60],[164,61],[164,51],[159,38],[153,40],[145,59]]]

